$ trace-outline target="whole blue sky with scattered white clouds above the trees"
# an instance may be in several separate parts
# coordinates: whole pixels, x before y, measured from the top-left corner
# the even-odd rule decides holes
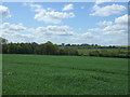
[[[127,2],[3,2],[0,37],[9,42],[128,44]]]

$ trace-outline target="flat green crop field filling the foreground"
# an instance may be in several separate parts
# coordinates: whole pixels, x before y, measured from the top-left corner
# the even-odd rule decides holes
[[[3,54],[3,95],[126,95],[128,59]]]

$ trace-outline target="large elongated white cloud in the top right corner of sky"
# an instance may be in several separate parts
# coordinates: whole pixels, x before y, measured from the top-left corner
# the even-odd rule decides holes
[[[112,4],[112,5],[106,5],[102,8],[95,4],[93,6],[93,13],[91,13],[90,15],[109,16],[113,14],[119,14],[125,10],[126,10],[126,6],[119,5],[119,4]]]

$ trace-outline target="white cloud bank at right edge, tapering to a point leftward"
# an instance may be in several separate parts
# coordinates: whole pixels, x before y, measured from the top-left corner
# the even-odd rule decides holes
[[[122,15],[120,17],[115,18],[115,22],[110,22],[110,25],[106,25],[104,28],[93,28],[88,29],[89,31],[93,32],[103,32],[104,34],[115,34],[115,33],[127,33],[128,32],[128,20],[123,19],[128,15]],[[100,22],[104,23],[104,22]],[[98,23],[99,24],[99,23]],[[113,25],[112,25],[113,24]],[[127,24],[127,25],[125,25]]]

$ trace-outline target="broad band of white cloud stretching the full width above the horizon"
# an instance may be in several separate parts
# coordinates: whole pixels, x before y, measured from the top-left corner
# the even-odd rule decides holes
[[[120,16],[122,17],[122,16]],[[119,18],[119,17],[117,17]],[[27,28],[21,24],[3,23],[0,36],[12,42],[43,43],[93,43],[93,44],[127,44],[127,25],[116,22],[104,28],[89,29],[88,32],[75,32],[67,25]]]

